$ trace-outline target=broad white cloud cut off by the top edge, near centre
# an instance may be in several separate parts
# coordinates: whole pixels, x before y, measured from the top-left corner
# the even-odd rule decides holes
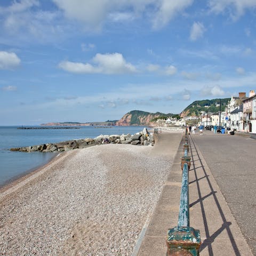
[[[193,0],[53,0],[69,19],[81,21],[87,29],[101,29],[111,21],[131,21],[150,18],[153,28],[158,29],[193,3]],[[129,12],[127,12],[129,10]]]

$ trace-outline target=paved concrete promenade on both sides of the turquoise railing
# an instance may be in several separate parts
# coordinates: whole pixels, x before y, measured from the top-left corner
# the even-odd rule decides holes
[[[166,145],[159,134],[158,145]],[[201,231],[200,255],[251,256],[255,251],[255,149],[246,137],[204,131],[189,135],[190,226]],[[177,226],[181,188],[180,157],[175,156],[138,255],[165,255],[167,229]],[[249,247],[250,246],[250,247]]]

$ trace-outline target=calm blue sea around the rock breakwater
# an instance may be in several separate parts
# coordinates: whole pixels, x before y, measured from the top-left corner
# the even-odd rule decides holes
[[[84,126],[80,129],[21,130],[18,126],[0,126],[0,187],[46,164],[56,153],[13,152],[10,148],[40,145],[72,139],[95,138],[100,134],[134,134],[142,126],[109,128]]]

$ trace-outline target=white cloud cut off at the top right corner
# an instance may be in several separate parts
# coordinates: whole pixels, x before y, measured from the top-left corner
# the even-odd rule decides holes
[[[233,20],[241,17],[246,9],[256,7],[255,0],[210,0],[210,11],[216,14],[227,12]]]

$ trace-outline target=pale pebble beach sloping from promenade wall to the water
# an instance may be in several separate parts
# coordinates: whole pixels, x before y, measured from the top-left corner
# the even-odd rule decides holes
[[[179,146],[75,149],[0,193],[0,255],[131,255]]]

